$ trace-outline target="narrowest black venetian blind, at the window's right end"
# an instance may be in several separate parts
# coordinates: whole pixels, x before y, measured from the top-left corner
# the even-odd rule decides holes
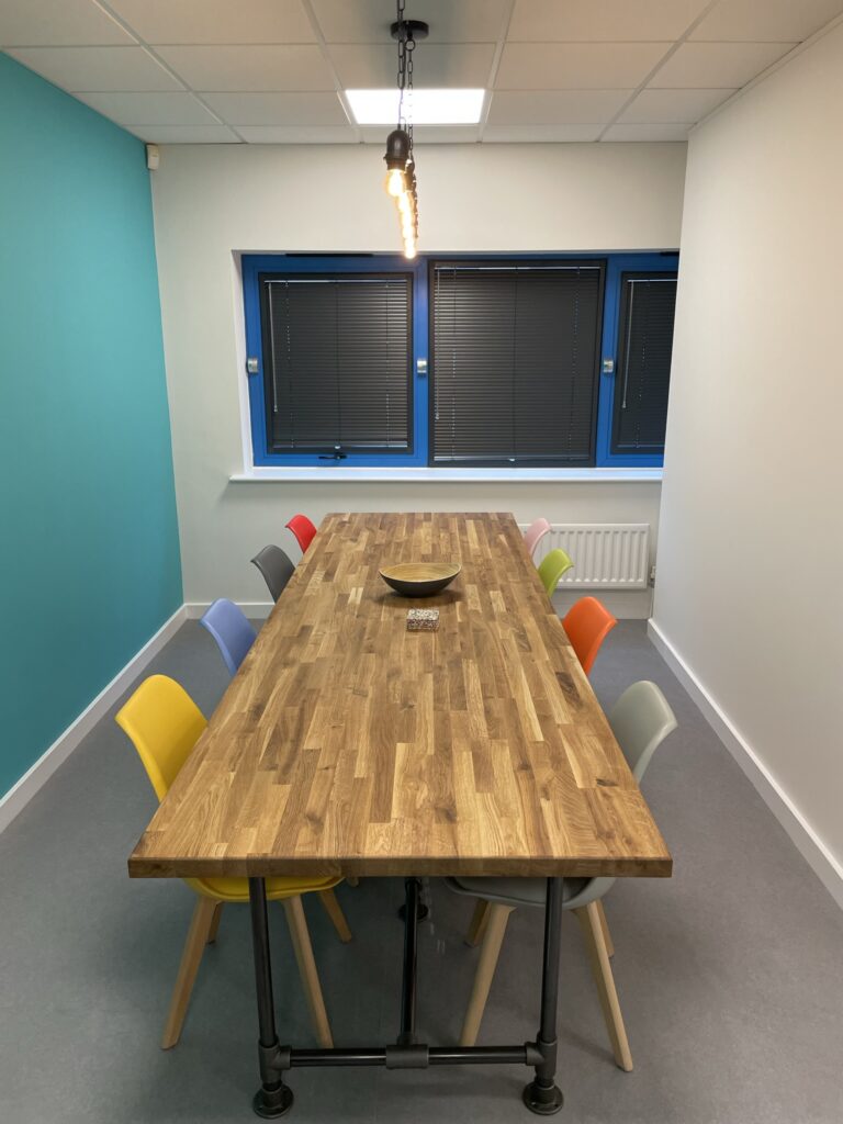
[[[624,273],[613,453],[664,451],[676,273]]]

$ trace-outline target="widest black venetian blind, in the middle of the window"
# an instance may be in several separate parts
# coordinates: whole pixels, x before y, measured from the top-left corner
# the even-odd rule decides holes
[[[436,262],[433,463],[593,463],[604,268]]]

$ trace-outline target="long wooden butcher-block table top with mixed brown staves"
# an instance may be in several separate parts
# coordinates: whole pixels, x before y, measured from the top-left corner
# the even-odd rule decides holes
[[[425,600],[378,575],[459,561]],[[438,607],[435,633],[407,610]],[[329,515],[133,877],[662,876],[671,858],[508,514]]]

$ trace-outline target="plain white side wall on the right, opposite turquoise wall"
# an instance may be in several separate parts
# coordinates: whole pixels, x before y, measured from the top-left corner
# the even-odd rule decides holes
[[[837,27],[691,136],[654,625],[843,903],[841,120]]]

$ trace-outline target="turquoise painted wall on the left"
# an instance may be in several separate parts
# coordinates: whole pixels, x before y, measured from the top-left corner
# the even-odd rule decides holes
[[[0,795],[181,601],[144,146],[0,54]]]

